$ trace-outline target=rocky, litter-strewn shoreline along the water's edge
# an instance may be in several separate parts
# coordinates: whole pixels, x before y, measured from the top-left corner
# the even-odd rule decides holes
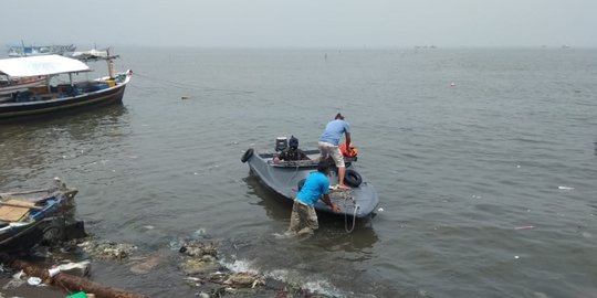
[[[177,254],[178,264],[176,267],[184,274],[185,284],[192,288],[196,297],[326,297],[310,292],[301,285],[276,280],[255,272],[230,270],[219,259],[218,244],[207,240],[182,240],[172,245],[170,251],[172,254]],[[78,269],[69,272],[69,274],[83,278],[93,272],[94,260],[108,262],[116,266],[133,264],[128,269],[134,275],[149,274],[166,262],[165,257],[160,257],[160,254],[142,255],[136,245],[92,236],[71,240],[53,247],[38,247],[33,255],[36,256],[35,264],[39,266],[54,264],[53,268],[56,268],[55,264],[65,264],[66,262],[87,264],[87,266],[78,266]],[[73,259],[76,262],[72,263]],[[40,287],[29,285],[29,276],[22,273],[19,277],[17,275],[19,275],[19,270],[2,265],[0,298],[66,297],[73,291],[57,287],[52,278],[44,279],[43,284],[48,284],[48,286]],[[138,297],[146,297],[144,294],[138,295]],[[95,297],[102,296],[95,295]]]

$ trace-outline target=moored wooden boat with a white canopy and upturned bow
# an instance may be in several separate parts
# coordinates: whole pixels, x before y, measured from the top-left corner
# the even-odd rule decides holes
[[[108,75],[93,81],[76,81],[80,73],[91,68],[82,61],[61,55],[42,55],[0,60],[0,74],[9,77],[44,76],[44,84],[10,94],[9,99],[0,102],[0,119],[52,114],[122,103],[126,84],[133,72],[114,72],[113,60],[117,56],[95,56],[108,64]],[[67,84],[52,78],[67,76]]]

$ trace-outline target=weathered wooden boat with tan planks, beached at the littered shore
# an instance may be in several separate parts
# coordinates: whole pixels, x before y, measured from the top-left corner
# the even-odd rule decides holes
[[[60,179],[46,190],[0,193],[0,252],[27,252],[43,240],[77,193]],[[35,194],[39,193],[39,194]]]

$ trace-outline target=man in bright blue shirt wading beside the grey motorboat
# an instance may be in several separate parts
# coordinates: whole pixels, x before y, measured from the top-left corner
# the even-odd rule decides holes
[[[320,227],[317,223],[317,213],[313,204],[322,199],[334,213],[339,211],[339,207],[329,200],[329,163],[326,160],[320,161],[317,171],[312,172],[301,191],[294,199],[292,206],[291,223],[289,232],[297,236],[313,235],[313,232]]]

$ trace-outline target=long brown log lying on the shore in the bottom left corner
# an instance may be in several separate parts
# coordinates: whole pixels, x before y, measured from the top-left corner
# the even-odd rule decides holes
[[[53,277],[48,272],[49,268],[40,265],[17,259],[10,256],[2,255],[0,260],[14,269],[23,270],[29,276],[36,276],[43,280],[44,284],[53,284],[55,286],[65,288],[70,291],[84,291],[94,294],[96,298],[148,298],[149,296],[136,292],[129,292],[124,289],[105,287],[100,284],[93,283],[86,278],[69,275],[65,273],[59,273]]]

